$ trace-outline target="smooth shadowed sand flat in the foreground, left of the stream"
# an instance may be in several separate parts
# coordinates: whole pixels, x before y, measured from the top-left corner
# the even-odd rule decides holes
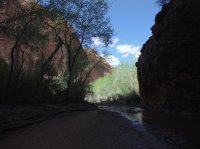
[[[166,149],[116,113],[63,113],[0,135],[1,149]]]

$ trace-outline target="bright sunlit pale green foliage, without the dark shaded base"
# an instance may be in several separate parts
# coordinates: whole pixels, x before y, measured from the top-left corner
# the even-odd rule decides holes
[[[116,100],[130,94],[138,95],[137,71],[134,65],[127,63],[116,67],[111,75],[97,79],[92,83],[93,102]],[[90,98],[89,100],[93,100]]]

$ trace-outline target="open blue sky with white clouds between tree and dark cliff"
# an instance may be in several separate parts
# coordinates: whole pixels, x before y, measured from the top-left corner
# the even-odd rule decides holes
[[[108,61],[113,66],[122,62],[137,60],[142,45],[151,36],[150,28],[154,25],[155,15],[160,8],[155,0],[109,0],[111,8],[108,15],[115,30],[113,45],[102,47],[94,39],[97,50],[109,51],[112,56]]]

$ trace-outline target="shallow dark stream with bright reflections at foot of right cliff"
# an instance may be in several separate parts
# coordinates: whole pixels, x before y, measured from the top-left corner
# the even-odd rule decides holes
[[[143,133],[157,137],[169,149],[200,149],[200,115],[147,112],[139,107],[100,106],[117,112]]]

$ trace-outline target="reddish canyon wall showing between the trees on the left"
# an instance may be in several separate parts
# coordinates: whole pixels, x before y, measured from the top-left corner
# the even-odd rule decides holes
[[[2,0],[0,4],[0,23],[6,16],[16,15],[23,7],[28,6],[34,1],[35,0]],[[45,28],[45,32],[48,30],[50,29]],[[78,39],[75,42],[76,45],[80,44]],[[0,58],[2,58],[8,64],[10,63],[10,53],[14,44],[15,40],[5,32],[4,28],[1,28],[0,26]],[[28,49],[29,47],[25,47],[23,45],[20,48],[22,48],[24,51],[24,67],[29,70],[35,70],[36,67],[38,67],[38,63],[42,63],[42,61],[47,59],[54,51],[56,48],[56,41],[50,36],[50,39],[47,41],[47,43],[40,46],[40,49],[38,50],[30,50]],[[112,69],[111,66],[105,61],[97,64],[97,61],[100,60],[100,57],[98,53],[94,51],[95,50],[93,49],[81,51],[82,57],[85,56],[85,59],[91,59],[94,62],[94,65],[96,65],[96,67],[90,73],[90,77],[88,78],[89,82],[92,82],[107,73],[111,73]],[[19,48],[16,48],[15,56],[15,65],[21,65],[22,60],[20,57],[22,57],[22,54]],[[67,53],[64,46],[56,53],[52,60],[52,64],[55,65],[57,71],[66,70]]]

